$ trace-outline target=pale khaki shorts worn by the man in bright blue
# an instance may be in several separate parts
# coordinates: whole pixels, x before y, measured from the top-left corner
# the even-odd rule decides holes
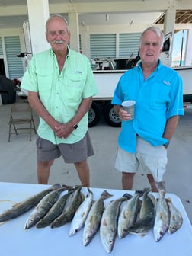
[[[152,146],[137,136],[136,153],[132,154],[118,148],[115,168],[122,172],[152,174],[156,182],[163,179],[168,162],[165,146]]]

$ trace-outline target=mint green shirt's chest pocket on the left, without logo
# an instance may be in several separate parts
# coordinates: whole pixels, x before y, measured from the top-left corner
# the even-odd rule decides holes
[[[47,69],[37,70],[37,81],[40,95],[50,95],[53,72]]]

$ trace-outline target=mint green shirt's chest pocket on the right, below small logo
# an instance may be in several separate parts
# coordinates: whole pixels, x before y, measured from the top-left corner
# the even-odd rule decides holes
[[[85,85],[84,75],[65,74],[63,84],[61,90],[66,101],[82,100],[82,92]]]

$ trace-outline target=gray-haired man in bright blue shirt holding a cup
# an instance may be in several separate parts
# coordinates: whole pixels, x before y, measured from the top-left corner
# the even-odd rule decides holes
[[[162,65],[164,36],[158,27],[141,36],[141,62],[125,72],[114,91],[112,104],[122,120],[115,168],[122,171],[124,190],[133,187],[134,174],[141,168],[152,191],[163,181],[167,147],[183,110],[183,83],[173,69]],[[123,110],[123,101],[136,101],[134,119]]]

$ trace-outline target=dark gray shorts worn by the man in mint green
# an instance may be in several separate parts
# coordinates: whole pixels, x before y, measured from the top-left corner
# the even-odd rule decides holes
[[[37,135],[36,145],[38,162],[51,161],[62,155],[62,158],[66,163],[75,163],[83,162],[89,156],[94,155],[88,132],[79,142],[74,144],[61,143],[59,145],[55,145],[49,140],[42,139]]]

